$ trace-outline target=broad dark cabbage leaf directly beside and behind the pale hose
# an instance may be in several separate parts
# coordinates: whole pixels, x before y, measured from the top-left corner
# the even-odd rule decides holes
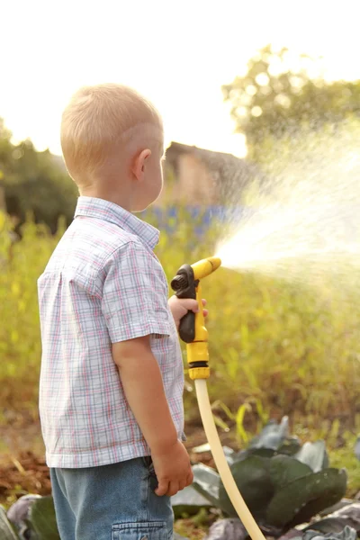
[[[274,495],[274,487],[269,474],[269,460],[258,455],[233,464],[231,473],[250,512],[257,517],[264,516],[266,507]],[[219,490],[220,509],[230,517],[237,513],[229,500],[222,482]]]

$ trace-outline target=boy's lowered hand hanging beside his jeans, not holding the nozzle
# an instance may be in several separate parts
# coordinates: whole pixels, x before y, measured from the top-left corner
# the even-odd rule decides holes
[[[157,475],[158,486],[155,493],[158,497],[173,497],[177,491],[184,490],[193,483],[193,471],[189,455],[184,445],[176,441],[174,446],[151,454]]]

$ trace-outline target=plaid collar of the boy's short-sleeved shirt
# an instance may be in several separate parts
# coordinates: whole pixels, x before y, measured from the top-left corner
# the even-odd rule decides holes
[[[139,220],[130,211],[124,210],[114,202],[104,201],[96,197],[80,196],[76,204],[75,217],[77,216],[110,221],[121,227],[121,229],[136,234],[151,249],[154,249],[158,243],[160,233],[155,227],[143,220]]]

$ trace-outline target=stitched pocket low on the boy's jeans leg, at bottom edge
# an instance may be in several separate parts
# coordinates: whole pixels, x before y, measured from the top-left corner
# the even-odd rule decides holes
[[[163,521],[137,523],[115,523],[112,525],[112,540],[168,540],[172,531]]]

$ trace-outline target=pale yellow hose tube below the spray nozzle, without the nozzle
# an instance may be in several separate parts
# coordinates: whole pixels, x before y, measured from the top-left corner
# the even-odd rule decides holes
[[[229,464],[226,461],[226,457],[220,443],[218,430],[216,429],[212,416],[206,380],[196,379],[195,389],[200,415],[202,417],[202,426],[211,447],[212,457],[224,487],[229,495],[229,500],[231,500],[234,509],[236,509],[238,513],[238,517],[241,519],[244,527],[247,529],[248,535],[252,538],[252,540],[266,540],[260,528],[257,526],[257,522],[252,517],[250,510],[247,508],[245,501],[241,497],[241,494],[238,491],[238,486],[236,485],[229,469]]]

